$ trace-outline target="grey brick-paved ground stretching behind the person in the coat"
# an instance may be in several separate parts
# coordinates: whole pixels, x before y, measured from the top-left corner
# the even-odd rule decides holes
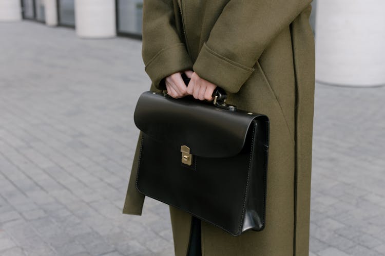
[[[0,255],[174,255],[166,205],[122,214],[141,41],[26,21],[0,35]],[[316,86],[312,256],[385,255],[384,98]]]

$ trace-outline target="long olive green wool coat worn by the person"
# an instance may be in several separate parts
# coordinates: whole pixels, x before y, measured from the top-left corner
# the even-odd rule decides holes
[[[150,90],[183,70],[228,93],[239,109],[271,121],[266,226],[233,237],[202,222],[204,256],[309,254],[314,106],[311,0],[144,0],[143,48]],[[137,148],[138,153],[138,148]],[[124,214],[142,214],[134,157]],[[170,207],[177,256],[185,256],[191,216]]]

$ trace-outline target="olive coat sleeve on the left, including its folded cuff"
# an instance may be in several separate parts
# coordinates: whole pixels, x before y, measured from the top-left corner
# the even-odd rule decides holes
[[[163,78],[192,70],[192,61],[176,26],[172,0],[144,0],[142,58],[153,86],[165,90]]]

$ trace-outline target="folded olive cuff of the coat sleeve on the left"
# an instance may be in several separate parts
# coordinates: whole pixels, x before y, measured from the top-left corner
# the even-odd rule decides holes
[[[146,64],[144,69],[153,86],[166,90],[164,78],[184,70],[192,70],[192,61],[183,43],[177,43],[160,50]]]

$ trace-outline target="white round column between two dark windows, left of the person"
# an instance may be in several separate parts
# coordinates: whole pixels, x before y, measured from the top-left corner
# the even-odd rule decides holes
[[[80,37],[115,36],[115,0],[75,0],[75,29]]]

